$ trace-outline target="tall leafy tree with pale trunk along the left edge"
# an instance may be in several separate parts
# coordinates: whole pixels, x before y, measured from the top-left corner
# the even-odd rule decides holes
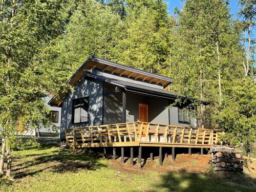
[[[41,50],[63,32],[68,14],[64,1],[2,1],[0,20],[0,127],[2,147],[7,147],[7,172],[11,175],[11,148],[20,131],[50,124],[44,101],[58,87],[50,81],[50,67],[42,64]],[[63,6],[65,7],[65,6]],[[4,147],[2,152],[4,152]],[[3,167],[1,156],[1,167]]]

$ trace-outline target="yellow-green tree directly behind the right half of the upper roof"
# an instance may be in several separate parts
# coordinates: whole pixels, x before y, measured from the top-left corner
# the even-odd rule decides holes
[[[146,71],[161,73],[170,32],[163,1],[127,1],[124,36],[118,41],[118,61]]]

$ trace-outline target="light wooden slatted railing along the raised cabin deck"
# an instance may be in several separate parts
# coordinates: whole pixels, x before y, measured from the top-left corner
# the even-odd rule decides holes
[[[148,122],[129,122],[65,129],[66,141],[73,147],[130,146],[129,143],[166,143],[185,145],[218,144],[218,130],[165,125]]]

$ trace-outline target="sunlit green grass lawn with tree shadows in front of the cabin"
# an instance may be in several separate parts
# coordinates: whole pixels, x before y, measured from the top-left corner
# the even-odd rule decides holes
[[[0,178],[0,191],[256,191],[255,179],[244,174],[122,172],[111,160],[51,145],[12,154],[13,180]]]

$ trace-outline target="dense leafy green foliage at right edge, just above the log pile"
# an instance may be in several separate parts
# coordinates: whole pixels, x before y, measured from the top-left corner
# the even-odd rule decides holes
[[[256,83],[244,77],[233,82],[227,90],[221,112],[216,121],[227,132],[226,138],[232,144],[243,143],[245,153],[256,155]]]

